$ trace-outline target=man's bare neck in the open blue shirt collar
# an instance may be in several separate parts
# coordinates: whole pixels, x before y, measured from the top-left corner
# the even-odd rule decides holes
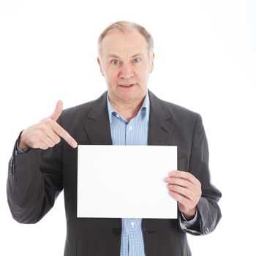
[[[143,104],[145,96],[135,102],[117,102],[114,99],[110,99],[111,105],[113,105],[113,108],[116,109],[116,111],[121,114],[127,121],[130,121],[132,118],[137,116],[138,112],[140,111],[140,108]]]

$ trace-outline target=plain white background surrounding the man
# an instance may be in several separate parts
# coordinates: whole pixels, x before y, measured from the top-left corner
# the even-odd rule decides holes
[[[201,114],[222,219],[208,236],[189,236],[193,255],[255,252],[255,1],[3,1],[0,4],[0,255],[63,255],[64,202],[36,225],[7,206],[7,164],[21,129],[105,91],[97,38],[116,20],[154,36],[148,87]]]

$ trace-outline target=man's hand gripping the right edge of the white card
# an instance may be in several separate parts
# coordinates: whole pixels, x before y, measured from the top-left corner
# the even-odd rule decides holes
[[[191,173],[175,170],[164,178],[169,194],[178,201],[178,209],[189,220],[195,217],[196,206],[202,195],[200,181]]]

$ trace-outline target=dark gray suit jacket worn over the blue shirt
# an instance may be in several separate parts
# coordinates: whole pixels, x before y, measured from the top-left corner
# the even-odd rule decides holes
[[[188,170],[202,184],[197,205],[199,220],[187,229],[178,219],[143,219],[146,256],[191,255],[187,234],[214,230],[221,213],[221,193],[210,182],[208,145],[200,116],[164,102],[148,92],[150,117],[148,145],[178,146],[178,170]],[[111,145],[107,94],[64,110],[59,123],[78,144]],[[64,189],[67,216],[66,256],[118,256],[121,219],[77,218],[77,149],[64,140],[46,151],[31,149],[12,155],[7,180],[7,199],[12,217],[21,223],[38,222],[53,207]],[[100,160],[100,159],[99,159]]]

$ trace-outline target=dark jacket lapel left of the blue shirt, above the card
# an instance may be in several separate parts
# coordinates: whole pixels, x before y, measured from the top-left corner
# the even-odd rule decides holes
[[[94,103],[84,129],[93,145],[112,145],[110,122],[108,118],[107,92]]]

